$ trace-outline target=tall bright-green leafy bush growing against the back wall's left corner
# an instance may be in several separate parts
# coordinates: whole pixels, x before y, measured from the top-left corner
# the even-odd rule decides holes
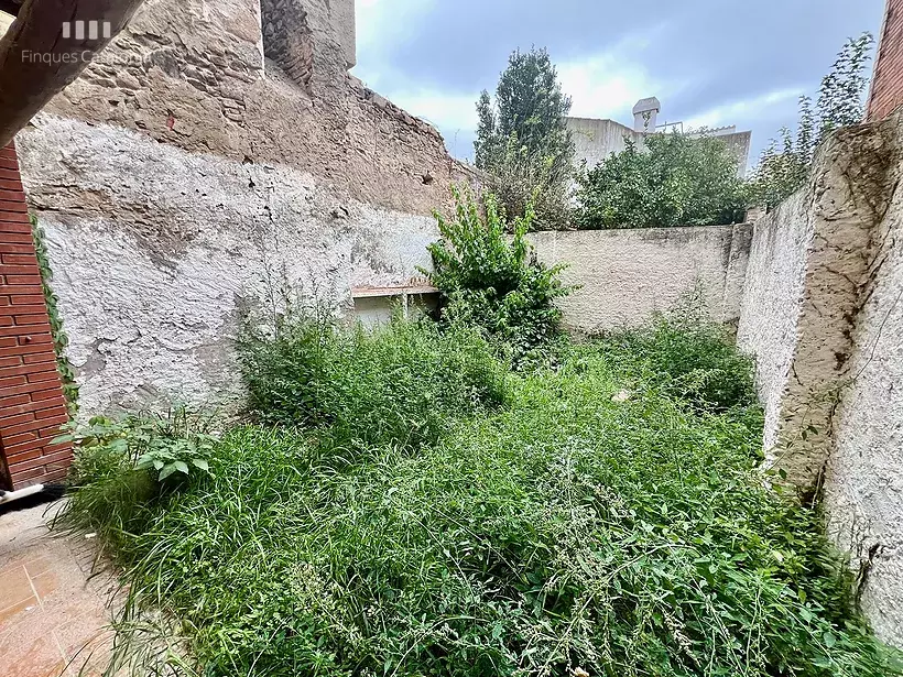
[[[547,358],[561,337],[562,312],[555,299],[569,287],[558,277],[563,265],[548,267],[526,241],[533,218],[514,219],[513,239],[494,197],[486,198],[486,216],[477,204],[455,192],[454,219],[436,214],[443,239],[429,245],[433,272],[423,271],[442,292],[442,319],[447,326],[478,327],[502,346],[518,367]]]

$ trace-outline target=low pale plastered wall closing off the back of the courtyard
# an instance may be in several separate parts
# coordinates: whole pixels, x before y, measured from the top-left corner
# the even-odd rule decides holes
[[[635,327],[673,309],[695,288],[708,314],[737,321],[751,227],[711,226],[531,233],[538,258],[567,263],[562,279],[580,290],[562,301],[581,331]]]

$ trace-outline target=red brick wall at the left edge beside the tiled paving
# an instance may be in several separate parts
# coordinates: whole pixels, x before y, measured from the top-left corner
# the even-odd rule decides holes
[[[68,419],[41,288],[15,150],[0,149],[0,482],[59,481],[69,445],[51,445]]]

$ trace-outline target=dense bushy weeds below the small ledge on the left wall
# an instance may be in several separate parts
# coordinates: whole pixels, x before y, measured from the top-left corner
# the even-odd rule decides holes
[[[505,398],[505,368],[475,332],[395,317],[372,331],[292,310],[239,342],[248,404],[264,424],[328,427],[338,443],[435,441],[449,421]]]

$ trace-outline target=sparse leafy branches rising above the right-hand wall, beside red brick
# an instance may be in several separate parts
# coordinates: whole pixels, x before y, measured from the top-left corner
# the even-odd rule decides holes
[[[818,145],[836,129],[862,121],[873,44],[871,33],[848,40],[822,78],[816,107],[810,97],[799,98],[796,138],[783,128],[780,141],[765,148],[749,182],[751,204],[772,209],[793,195],[806,183]]]

